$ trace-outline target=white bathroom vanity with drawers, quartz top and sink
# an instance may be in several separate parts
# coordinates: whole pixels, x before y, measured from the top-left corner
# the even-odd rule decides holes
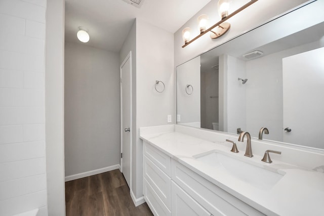
[[[140,128],[154,215],[324,215],[324,154],[184,125]],[[231,152],[236,142],[238,153]],[[266,150],[272,163],[261,161]]]

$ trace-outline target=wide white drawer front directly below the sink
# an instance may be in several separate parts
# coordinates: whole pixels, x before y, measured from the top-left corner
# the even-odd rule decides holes
[[[264,215],[175,160],[171,177],[213,215]]]

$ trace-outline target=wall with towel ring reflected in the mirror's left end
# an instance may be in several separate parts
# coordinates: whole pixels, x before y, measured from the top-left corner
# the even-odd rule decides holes
[[[187,84],[192,85],[193,91],[186,88]],[[177,101],[178,123],[198,122],[200,127],[200,56],[177,67]]]

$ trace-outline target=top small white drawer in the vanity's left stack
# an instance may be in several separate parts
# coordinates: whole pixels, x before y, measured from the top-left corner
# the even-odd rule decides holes
[[[171,157],[145,141],[143,141],[143,153],[169,177],[171,176]]]

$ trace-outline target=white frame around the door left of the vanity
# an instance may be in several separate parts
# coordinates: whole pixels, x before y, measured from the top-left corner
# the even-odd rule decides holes
[[[132,190],[132,135],[133,135],[133,128],[132,128],[132,117],[133,117],[133,109],[132,109],[132,51],[129,52],[129,54],[126,56],[126,58],[124,59],[123,63],[121,63],[120,67],[119,67],[119,85],[120,85],[120,153],[123,153],[123,87],[122,87],[122,81],[121,80],[121,68],[125,65],[125,63],[127,62],[127,60],[130,60],[130,100],[131,100],[131,107],[130,107],[130,111],[131,111],[131,119],[130,119],[130,190]],[[119,155],[121,156],[121,155]],[[123,158],[120,157],[120,172],[123,172]]]

